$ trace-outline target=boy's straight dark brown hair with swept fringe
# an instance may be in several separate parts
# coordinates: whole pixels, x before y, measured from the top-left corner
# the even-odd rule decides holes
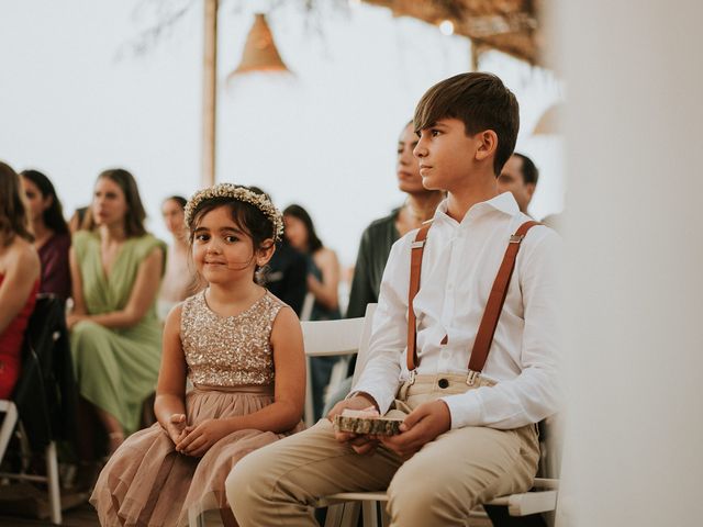
[[[498,177],[510,158],[520,130],[520,106],[512,91],[492,74],[470,72],[449,77],[429,88],[415,109],[415,131],[443,119],[464,122],[467,135],[492,130],[498,135],[493,171]]]

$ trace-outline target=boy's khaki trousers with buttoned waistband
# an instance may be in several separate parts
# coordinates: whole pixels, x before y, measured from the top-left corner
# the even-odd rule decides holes
[[[443,379],[449,381],[444,389]],[[473,388],[487,384],[481,380]],[[408,414],[426,401],[468,389],[462,375],[417,375],[401,388],[389,413]],[[465,526],[477,505],[527,491],[538,459],[534,425],[451,429],[403,462],[383,447],[357,455],[337,442],[332,424],[321,419],[247,455],[230,473],[226,492],[242,527],[314,526],[312,506],[320,497],[386,489],[394,527]]]

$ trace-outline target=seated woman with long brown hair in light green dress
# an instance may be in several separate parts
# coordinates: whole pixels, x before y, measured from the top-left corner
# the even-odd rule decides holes
[[[166,246],[146,232],[145,217],[134,177],[105,170],[85,228],[74,235],[74,310],[67,322],[83,403],[82,460],[92,458],[91,410],[112,453],[138,428],[144,400],[156,386],[161,327],[155,300]]]

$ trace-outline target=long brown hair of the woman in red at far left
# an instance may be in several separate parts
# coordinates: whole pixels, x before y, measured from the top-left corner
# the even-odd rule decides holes
[[[18,172],[0,161],[0,242],[5,247],[15,236],[34,242],[23,194]]]

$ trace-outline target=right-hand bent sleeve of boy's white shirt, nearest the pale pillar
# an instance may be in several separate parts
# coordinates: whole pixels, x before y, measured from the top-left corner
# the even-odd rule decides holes
[[[561,400],[558,368],[561,350],[560,238],[549,229],[534,245],[522,250],[522,262],[516,269],[525,323],[522,372],[494,386],[443,397],[451,414],[453,428],[517,428],[538,423],[558,410]]]

